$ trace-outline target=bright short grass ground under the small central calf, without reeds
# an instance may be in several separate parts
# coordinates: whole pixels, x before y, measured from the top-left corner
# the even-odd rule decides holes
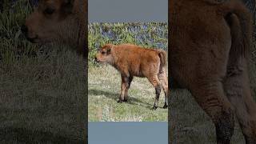
[[[159,122],[167,121],[162,91],[157,110],[154,86],[146,78],[134,78],[128,102],[118,103],[121,76],[112,66],[90,67],[88,74],[88,111],[90,122]]]

